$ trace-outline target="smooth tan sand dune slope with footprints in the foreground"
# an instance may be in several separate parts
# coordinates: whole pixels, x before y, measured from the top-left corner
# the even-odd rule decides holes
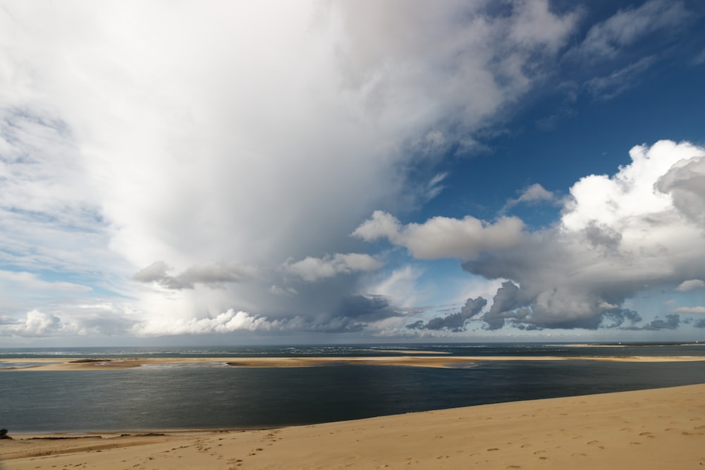
[[[0,468],[700,469],[705,385],[258,431],[162,432],[61,440],[10,433],[14,440],[0,440]]]

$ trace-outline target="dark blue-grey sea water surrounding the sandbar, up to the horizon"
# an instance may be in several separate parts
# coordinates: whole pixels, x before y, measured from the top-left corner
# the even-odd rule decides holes
[[[388,356],[389,350],[455,356],[705,356],[699,345],[415,344],[0,349],[0,358],[23,358],[14,365],[27,366],[40,357],[352,357]],[[357,364],[269,369],[213,362],[0,371],[0,427],[11,432],[264,428],[693,383],[705,383],[705,362],[479,361],[458,369]]]

